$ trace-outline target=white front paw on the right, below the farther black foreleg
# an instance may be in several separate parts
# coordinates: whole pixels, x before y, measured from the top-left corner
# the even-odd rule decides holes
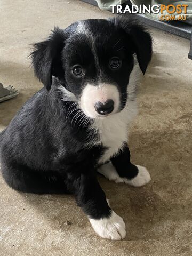
[[[136,166],[138,167],[139,172],[135,178],[131,180],[126,178],[122,178],[122,179],[126,184],[132,185],[134,187],[141,187],[143,185],[146,185],[151,180],[151,177],[146,167],[143,167],[140,165],[136,165]]]

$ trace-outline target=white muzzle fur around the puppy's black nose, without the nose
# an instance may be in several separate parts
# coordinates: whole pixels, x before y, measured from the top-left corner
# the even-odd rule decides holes
[[[95,118],[98,113],[95,111],[95,103],[105,103],[107,100],[114,101],[114,110],[112,113],[116,113],[119,108],[120,95],[117,86],[111,84],[99,84],[94,86],[87,84],[82,92],[80,99],[80,106],[85,115]]]

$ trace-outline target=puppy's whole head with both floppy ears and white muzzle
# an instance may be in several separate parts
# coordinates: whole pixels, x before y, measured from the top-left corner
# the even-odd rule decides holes
[[[35,74],[50,90],[52,77],[70,101],[90,118],[105,117],[126,105],[134,54],[143,74],[151,59],[151,37],[136,23],[114,18],[83,20],[56,28],[31,54]]]

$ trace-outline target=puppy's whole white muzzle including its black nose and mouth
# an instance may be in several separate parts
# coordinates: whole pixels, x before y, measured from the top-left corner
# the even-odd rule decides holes
[[[94,86],[87,84],[83,89],[79,103],[87,117],[105,118],[118,111],[119,91],[115,85]]]

